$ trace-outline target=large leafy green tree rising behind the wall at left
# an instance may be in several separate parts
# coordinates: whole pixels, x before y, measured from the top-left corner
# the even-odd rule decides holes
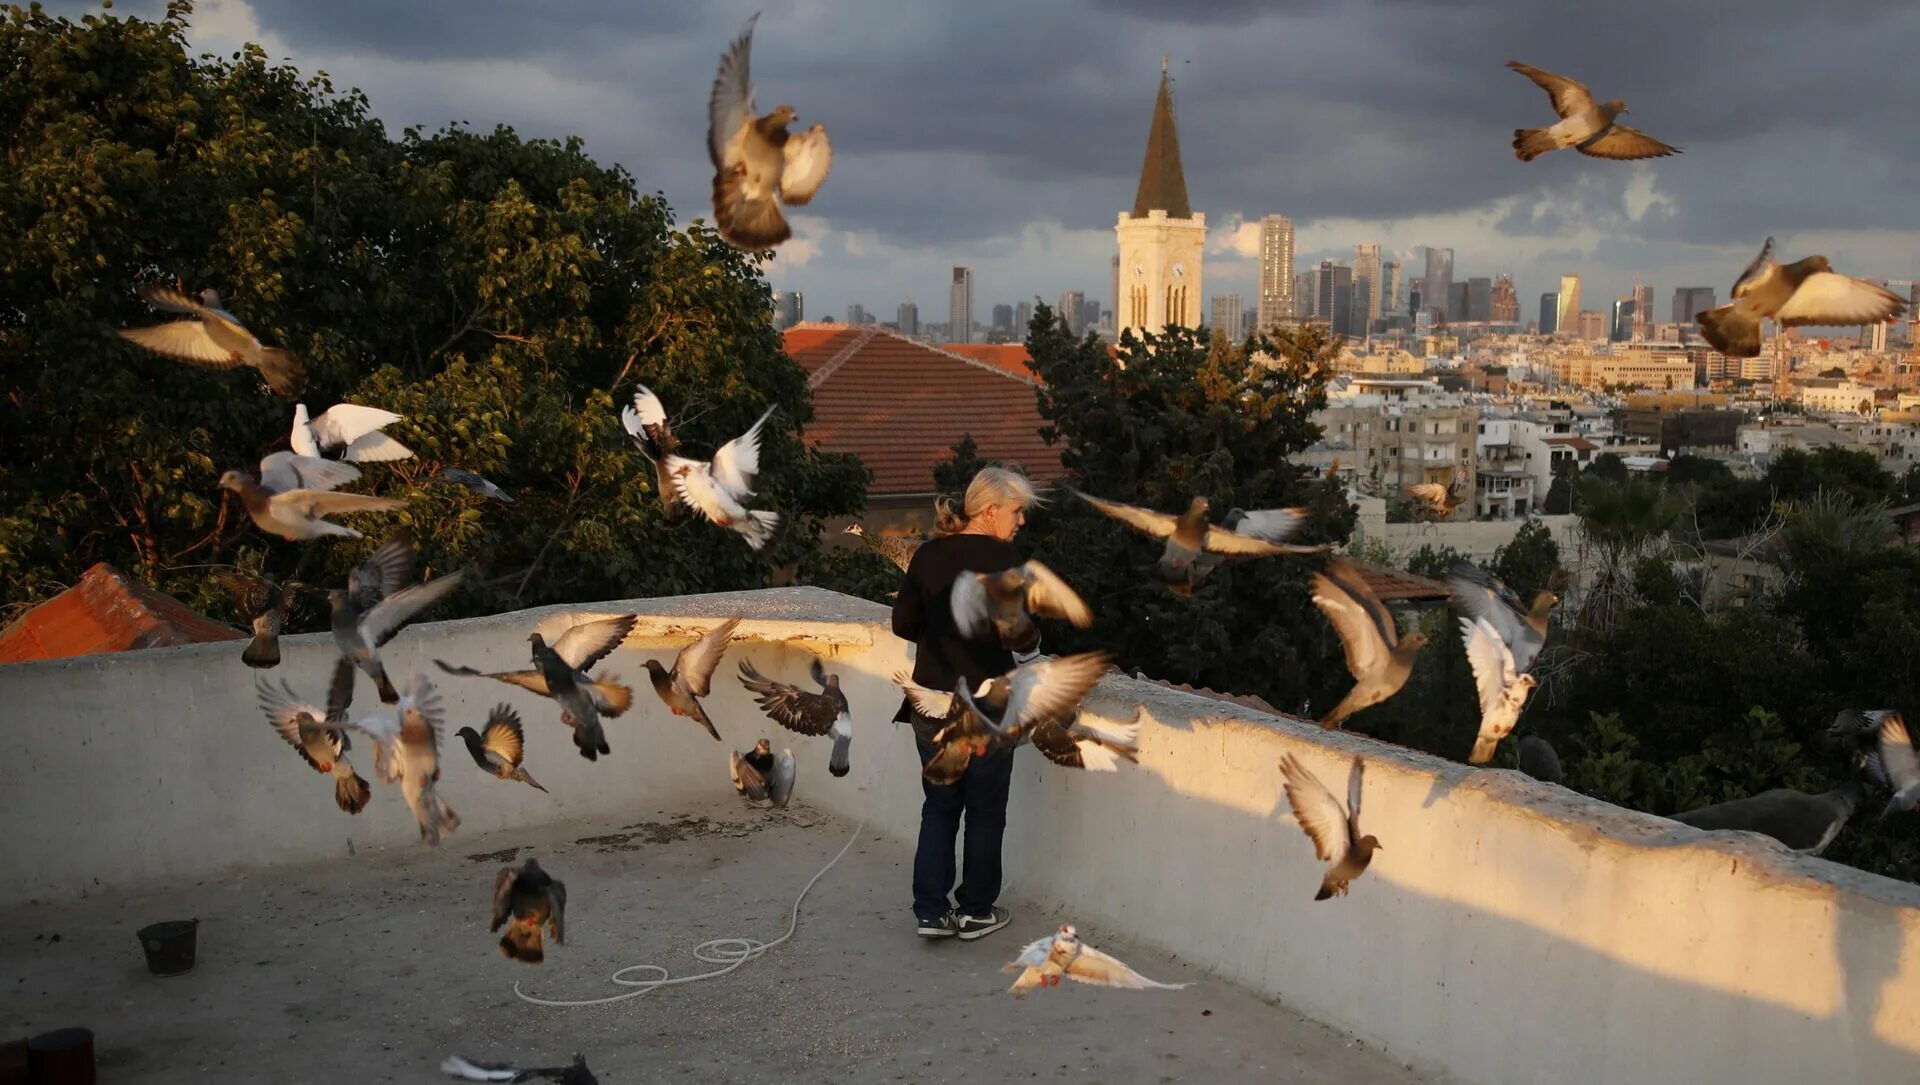
[[[290,403],[250,371],[207,371],[113,336],[157,319],[132,286],[215,286],[265,342],[305,359],[305,401],[407,415],[419,459],[371,465],[434,568],[482,586],[442,613],[766,584],[864,503],[858,461],[795,438],[806,380],[781,353],[755,255],[674,227],[580,140],[511,129],[390,138],[324,75],[190,58],[192,4],[159,21],[0,23],[0,584],[40,599],[111,561],[230,615],[200,565],[292,565],[215,480],[284,447]],[[31,73],[21,77],[23,73]],[[758,503],[789,517],[766,553],[705,522],[668,528],[620,432],[636,382],[703,453],[768,405]],[[518,495],[430,484],[440,465]],[[369,543],[313,543],[336,584]]]

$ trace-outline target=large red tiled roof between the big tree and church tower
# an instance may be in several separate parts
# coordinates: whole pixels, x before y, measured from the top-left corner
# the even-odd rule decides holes
[[[1033,382],[877,326],[789,328],[787,353],[814,386],[806,440],[851,451],[874,495],[929,494],[933,465],[972,434],[983,459],[1018,463],[1041,484],[1066,474],[1041,440]]]

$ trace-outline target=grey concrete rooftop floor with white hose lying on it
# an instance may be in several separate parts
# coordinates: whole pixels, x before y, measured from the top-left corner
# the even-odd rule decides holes
[[[1194,985],[1068,983],[1016,1001],[1000,966],[1073,916],[1010,887],[1008,929],[924,943],[906,906],[912,851],[874,832],[814,887],[793,941],[732,976],[593,1008],[513,995],[515,981],[551,999],[611,995],[622,966],[705,972],[691,956],[705,939],[778,937],[851,832],[801,803],[636,805],[620,824],[455,833],[440,849],[21,908],[0,926],[0,1041],[86,1025],[102,1081],[157,1083],[445,1081],[447,1052],[551,1066],[574,1050],[607,1085],[1417,1081],[1346,1033],[1096,926],[1081,928],[1091,945]],[[568,891],[568,941],[549,943],[543,966],[507,960],[486,929],[495,870],[530,855]],[[134,929],[194,916],[194,972],[150,976]]]

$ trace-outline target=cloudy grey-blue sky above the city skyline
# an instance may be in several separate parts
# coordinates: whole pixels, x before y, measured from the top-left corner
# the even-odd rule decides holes
[[[1208,294],[1252,303],[1267,213],[1294,219],[1300,267],[1361,240],[1452,246],[1455,282],[1515,277],[1523,319],[1563,273],[1588,307],[1636,280],[1659,313],[1682,284],[1724,301],[1766,234],[1855,275],[1920,273],[1910,0],[202,0],[192,38],[324,69],[396,131],[582,134],[691,219],[710,213],[707,90],[756,6],[758,106],[833,136],[768,267],[808,317],[912,298],[941,321],[956,263],[977,319],[1062,290],[1110,305],[1162,54]],[[1515,161],[1513,129],[1551,109],[1509,58],[1624,98],[1686,154]]]

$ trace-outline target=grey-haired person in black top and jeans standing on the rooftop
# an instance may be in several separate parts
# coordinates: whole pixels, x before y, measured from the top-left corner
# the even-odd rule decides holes
[[[906,567],[893,603],[893,634],[918,645],[914,682],[950,693],[958,682],[979,687],[1039,655],[1033,643],[1004,645],[991,628],[964,638],[954,628],[950,593],[962,572],[1000,572],[1020,565],[1012,538],[1025,526],[1027,509],[1039,503],[1033,484],[1004,467],[985,467],[966,488],[966,501],[933,501],[935,538]],[[920,764],[933,759],[939,720],[900,703],[897,720],[914,726]],[[914,918],[922,937],[973,941],[1006,926],[1012,914],[995,904],[1000,897],[1000,837],[1006,832],[1006,793],[1014,780],[1014,751],[995,749],[975,757],[956,784],[920,782],[920,845],[914,851]],[[966,816],[966,858],[954,891],[954,839]],[[952,893],[952,899],[948,899]]]

